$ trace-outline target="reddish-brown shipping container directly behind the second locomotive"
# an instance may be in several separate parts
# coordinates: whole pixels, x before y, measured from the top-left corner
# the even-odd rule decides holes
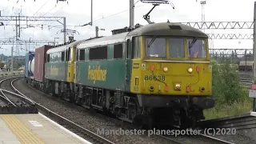
[[[46,52],[52,48],[52,46],[42,46],[35,49],[34,52],[34,79],[40,82],[45,80],[45,63],[46,63]]]

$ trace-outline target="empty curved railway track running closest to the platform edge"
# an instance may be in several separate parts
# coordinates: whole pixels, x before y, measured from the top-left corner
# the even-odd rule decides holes
[[[3,81],[6,81],[10,78],[6,78]],[[30,98],[27,98],[26,95],[22,94],[17,88],[14,86],[14,82],[21,78],[15,78],[10,82],[11,88],[17,93],[15,95],[18,95],[20,98],[29,99],[29,101],[34,102]],[[1,83],[1,82],[0,82]],[[6,90],[2,90],[5,91]],[[70,120],[62,117],[61,115],[58,115],[54,113],[53,111],[47,109],[46,107],[38,104],[37,102],[34,102],[35,106],[38,108],[38,110],[41,110],[44,114],[47,115],[47,117],[50,117],[55,122],[58,122],[59,125],[66,127],[68,130],[74,132],[74,134],[77,134],[78,136],[85,138],[87,141],[92,143],[106,143],[106,144],[114,144],[114,142],[110,142],[106,138],[102,138],[98,134],[94,134],[90,130],[86,130],[82,126],[78,126],[78,124],[71,122]]]

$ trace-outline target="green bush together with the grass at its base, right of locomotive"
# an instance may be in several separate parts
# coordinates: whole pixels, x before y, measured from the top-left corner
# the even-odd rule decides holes
[[[249,113],[253,109],[253,98],[249,98],[249,90],[241,86],[238,72],[229,62],[218,64],[212,62],[215,106],[204,110],[206,119]]]

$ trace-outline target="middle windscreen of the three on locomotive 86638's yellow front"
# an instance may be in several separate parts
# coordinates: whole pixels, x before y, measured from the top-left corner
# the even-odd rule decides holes
[[[169,38],[170,58],[184,58],[184,39],[183,38]]]

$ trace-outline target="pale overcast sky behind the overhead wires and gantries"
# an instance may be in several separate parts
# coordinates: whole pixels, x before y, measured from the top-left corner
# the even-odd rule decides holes
[[[110,35],[111,30],[129,26],[129,0],[94,0],[94,26],[84,27],[79,27],[79,25],[90,22],[90,0],[68,0],[68,4],[67,2],[58,2],[57,4],[56,0],[17,1],[1,0],[0,10],[2,11],[2,16],[15,16],[21,13],[23,16],[66,17],[66,24],[69,26],[67,28],[79,32],[79,34],[74,35],[77,40],[94,37],[95,26],[105,29],[104,31],[99,31],[99,35],[103,36]],[[136,2],[136,0],[134,1]],[[196,0],[172,0],[171,2],[174,3],[174,10],[169,5],[157,6],[151,12],[150,19],[153,22],[167,22],[167,19],[170,22],[201,22],[202,6],[200,5],[200,0],[198,2]],[[137,2],[135,7],[134,23],[145,25],[146,21],[142,16],[151,9],[152,5]],[[254,1],[207,0],[205,14],[206,22],[253,22]],[[4,24],[10,23],[14,24],[15,22],[4,22]],[[32,24],[33,22],[29,23]],[[59,38],[56,41],[63,41],[63,34],[60,33],[61,27],[48,30],[48,26],[61,26],[60,23],[34,22],[34,24],[44,24],[43,30],[39,27],[22,29],[22,40],[31,38],[34,40],[54,41],[54,38]],[[14,30],[14,26],[0,26],[0,38],[13,38],[15,35]],[[253,30],[205,30],[205,32],[206,34],[253,34]],[[0,53],[10,55],[11,46],[1,47],[3,49],[0,49]],[[26,47],[28,49],[28,46],[22,46],[20,54],[24,55],[26,53]],[[214,40],[214,49],[252,49],[252,47],[252,40]],[[34,46],[30,46],[30,50],[34,50]]]

